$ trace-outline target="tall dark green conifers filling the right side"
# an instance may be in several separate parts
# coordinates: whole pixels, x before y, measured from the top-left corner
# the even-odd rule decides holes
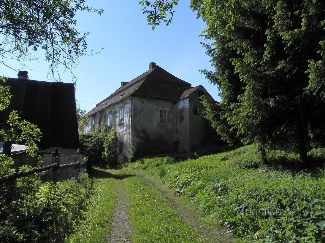
[[[306,151],[324,143],[325,2],[192,0],[220,104],[203,100],[224,140]],[[168,9],[167,9],[168,12]],[[150,22],[149,22],[150,23]],[[152,22],[151,22],[152,24]]]

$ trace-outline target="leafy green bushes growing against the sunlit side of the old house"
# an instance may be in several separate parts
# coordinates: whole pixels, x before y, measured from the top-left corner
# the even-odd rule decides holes
[[[80,135],[79,153],[88,158],[88,163],[106,168],[117,165],[116,130],[112,128],[108,133],[107,125],[96,132]]]

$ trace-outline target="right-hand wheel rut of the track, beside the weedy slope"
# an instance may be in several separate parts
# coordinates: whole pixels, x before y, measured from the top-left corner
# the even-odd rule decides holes
[[[226,233],[223,229],[218,229],[213,226],[208,225],[203,221],[202,216],[193,212],[188,205],[184,205],[179,201],[179,199],[165,191],[161,186],[159,186],[153,179],[143,175],[142,173],[132,170],[136,175],[146,179],[151,185],[153,185],[162,194],[163,197],[167,199],[167,202],[173,207],[173,209],[179,213],[181,218],[193,229],[199,232],[202,240],[207,240],[209,242],[233,242],[233,236]]]

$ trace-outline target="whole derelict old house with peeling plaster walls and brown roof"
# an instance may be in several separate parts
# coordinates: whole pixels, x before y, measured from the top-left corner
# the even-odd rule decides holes
[[[121,87],[89,111],[85,133],[97,127],[115,128],[118,136],[119,163],[125,162],[143,133],[164,140],[172,152],[201,147],[204,139],[204,117],[199,97],[202,87],[191,85],[156,66]]]

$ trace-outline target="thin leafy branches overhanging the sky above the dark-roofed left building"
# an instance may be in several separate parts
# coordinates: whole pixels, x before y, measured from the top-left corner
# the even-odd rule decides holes
[[[45,51],[49,74],[58,67],[72,71],[77,58],[86,54],[86,36],[75,29],[78,11],[102,14],[102,9],[85,5],[86,0],[0,0],[0,64],[9,59],[24,64],[35,53]],[[9,66],[10,68],[13,68]],[[13,68],[14,69],[14,68]]]

